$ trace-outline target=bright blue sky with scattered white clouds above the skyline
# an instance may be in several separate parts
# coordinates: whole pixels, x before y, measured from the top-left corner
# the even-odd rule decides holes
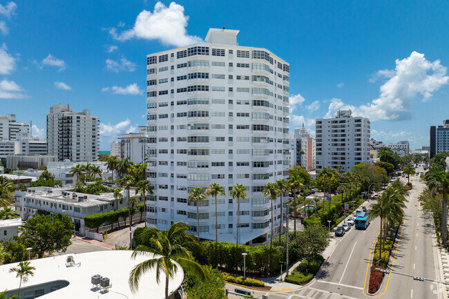
[[[45,137],[52,104],[90,108],[108,150],[146,124],[146,55],[226,26],[289,61],[292,129],[352,108],[375,139],[417,148],[449,118],[448,3],[1,1],[0,114]]]

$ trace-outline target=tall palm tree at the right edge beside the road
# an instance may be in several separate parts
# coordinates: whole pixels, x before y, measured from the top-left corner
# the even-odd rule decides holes
[[[443,246],[447,245],[448,226],[448,193],[449,193],[449,173],[443,169],[432,167],[426,175],[426,184],[432,195],[440,194],[443,197],[442,217],[441,217],[441,240]]]

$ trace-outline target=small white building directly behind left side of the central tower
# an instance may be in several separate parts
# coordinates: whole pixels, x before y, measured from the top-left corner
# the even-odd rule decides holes
[[[119,139],[122,160],[129,158],[134,164],[144,162],[148,144],[151,142],[147,126],[140,126],[138,133],[123,134]]]

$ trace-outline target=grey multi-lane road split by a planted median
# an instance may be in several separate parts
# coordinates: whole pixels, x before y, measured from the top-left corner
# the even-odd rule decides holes
[[[418,171],[423,169],[419,168]],[[407,179],[401,180],[406,182]],[[365,231],[355,230],[353,226],[343,238],[335,237],[339,240],[338,245],[323,264],[314,282],[296,291],[269,293],[269,298],[443,298],[446,287],[434,282],[442,279],[432,217],[421,211],[418,202],[425,185],[419,176],[410,177],[410,182],[413,189],[408,197],[403,225],[392,252],[392,272],[385,275],[378,293],[373,296],[367,294],[370,259],[380,229],[380,220],[376,219]],[[370,204],[367,206],[369,209]],[[429,280],[420,282],[410,276]]]

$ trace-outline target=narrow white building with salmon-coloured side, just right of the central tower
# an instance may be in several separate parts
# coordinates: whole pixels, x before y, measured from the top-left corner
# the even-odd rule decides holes
[[[306,170],[316,167],[316,142],[310,137],[306,128],[295,130],[294,142],[296,144],[296,165],[300,165]]]

